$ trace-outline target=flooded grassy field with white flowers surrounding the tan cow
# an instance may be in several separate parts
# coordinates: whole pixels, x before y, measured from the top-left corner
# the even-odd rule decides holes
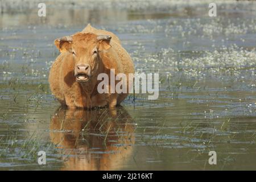
[[[45,18],[37,6],[3,9],[0,170],[255,170],[256,2],[217,3],[212,18],[208,3],[168,5],[52,5]],[[53,40],[88,23],[114,32],[137,72],[159,73],[158,100],[60,107],[48,85]]]

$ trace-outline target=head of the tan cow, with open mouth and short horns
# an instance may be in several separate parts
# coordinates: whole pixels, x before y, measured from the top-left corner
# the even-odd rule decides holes
[[[87,82],[98,73],[100,67],[100,52],[109,49],[111,36],[77,33],[55,40],[55,46],[60,52],[73,55],[76,81]]]

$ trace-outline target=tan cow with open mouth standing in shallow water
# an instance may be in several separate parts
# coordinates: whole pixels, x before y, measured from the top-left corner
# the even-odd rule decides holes
[[[127,97],[133,86],[129,73],[134,73],[134,65],[112,32],[97,30],[88,24],[82,32],[56,39],[55,46],[61,53],[49,72],[49,85],[62,105],[71,108],[115,107]],[[125,73],[126,93],[110,93],[110,69],[114,69],[115,75]],[[100,73],[109,76],[106,88],[109,93],[98,93]]]

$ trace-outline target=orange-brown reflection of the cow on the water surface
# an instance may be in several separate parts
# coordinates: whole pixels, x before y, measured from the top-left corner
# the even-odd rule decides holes
[[[63,148],[64,170],[119,169],[129,159],[134,124],[123,107],[115,110],[70,110],[52,116],[50,137]]]

